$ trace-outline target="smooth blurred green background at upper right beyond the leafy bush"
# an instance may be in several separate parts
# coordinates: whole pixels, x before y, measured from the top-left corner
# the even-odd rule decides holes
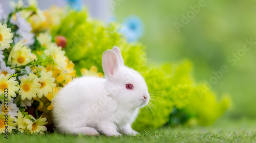
[[[139,40],[146,46],[151,61],[179,62],[189,59],[194,63],[197,81],[204,82],[214,76],[223,65],[229,69],[212,85],[218,95],[229,93],[232,108],[228,118],[256,118],[256,46],[235,65],[227,61],[237,53],[245,39],[256,41],[256,1],[203,1],[195,16],[184,27],[177,30],[174,22],[182,23],[182,14],[187,15],[191,7],[200,0],[154,1],[129,0],[116,5],[114,14],[118,22],[131,15],[139,16],[144,23],[144,36]]]

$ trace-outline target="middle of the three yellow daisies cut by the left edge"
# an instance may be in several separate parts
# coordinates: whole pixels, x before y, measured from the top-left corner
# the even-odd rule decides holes
[[[16,91],[18,91],[18,81],[16,81],[16,77],[10,78],[10,74],[8,73],[6,76],[4,74],[0,75],[0,95],[5,93],[5,89],[8,89],[8,100],[11,97],[16,97]],[[10,79],[9,79],[10,78]]]

